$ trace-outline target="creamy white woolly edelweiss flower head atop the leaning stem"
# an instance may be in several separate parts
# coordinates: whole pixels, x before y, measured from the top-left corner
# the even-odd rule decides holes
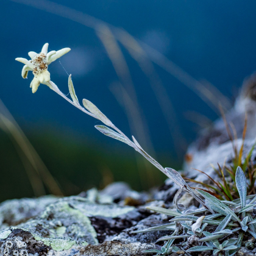
[[[32,88],[32,93],[35,93],[37,91],[37,88],[40,84],[49,86],[49,81],[51,80],[51,78],[48,71],[48,65],[71,50],[70,48],[63,48],[57,52],[48,52],[48,45],[48,43],[44,44],[40,54],[37,54],[37,52],[29,52],[29,57],[31,58],[31,60],[27,60],[24,58],[15,59],[18,60],[18,62],[25,64],[21,71],[21,76],[23,78],[27,78],[27,73],[29,71],[33,71],[35,77],[30,84],[30,88]]]

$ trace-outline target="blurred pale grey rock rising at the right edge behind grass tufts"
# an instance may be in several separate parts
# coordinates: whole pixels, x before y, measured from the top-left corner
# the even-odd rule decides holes
[[[236,130],[238,149],[240,149],[243,138],[244,119],[247,113],[247,131],[244,154],[247,154],[255,141],[256,127],[256,73],[245,79],[240,96],[236,99],[235,105],[225,114],[227,123],[233,124]],[[229,129],[232,128],[229,126]],[[254,154],[256,152],[254,151]],[[202,176],[192,168],[207,172],[213,179],[216,174],[209,168],[209,165],[216,163],[223,165],[225,158],[229,163],[233,157],[233,146],[227,133],[226,124],[220,118],[213,123],[213,126],[201,132],[197,140],[191,144],[187,151],[187,161],[183,169],[191,175]],[[202,179],[202,177],[201,177]],[[206,179],[206,178],[205,178]]]

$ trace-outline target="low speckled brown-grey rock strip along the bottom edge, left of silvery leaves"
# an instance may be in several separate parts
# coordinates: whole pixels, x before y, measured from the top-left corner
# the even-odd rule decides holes
[[[88,245],[80,249],[79,256],[140,256],[146,255],[141,252],[148,249],[154,249],[154,244],[130,243],[122,244],[118,241],[106,241],[99,245]],[[77,255],[77,256],[78,256]]]

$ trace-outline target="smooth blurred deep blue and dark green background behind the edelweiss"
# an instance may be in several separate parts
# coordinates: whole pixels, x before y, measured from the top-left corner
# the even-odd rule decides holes
[[[63,6],[69,9],[63,9]],[[74,13],[74,10],[80,13]],[[147,172],[149,167],[144,165],[141,157],[135,156],[132,148],[104,137],[94,129],[94,125],[100,124],[99,121],[80,112],[45,85],[40,85],[37,93],[32,94],[29,88],[32,73],[28,79],[23,79],[23,65],[15,62],[15,58],[28,59],[27,52],[40,52],[46,42],[49,43],[49,51],[71,48],[71,52],[49,66],[51,80],[63,93],[68,94],[68,74],[72,74],[80,101],[86,98],[94,102],[119,129],[130,136],[131,133],[135,134],[130,132],[130,126],[134,129],[139,123],[133,113],[127,118],[127,106],[119,104],[124,104],[120,86],[126,88],[132,100],[130,107],[139,107],[143,129],[148,127],[148,132],[142,132],[145,141],[151,143],[143,144],[138,137],[139,131],[135,137],[163,166],[180,168],[186,146],[194,140],[197,131],[207,124],[208,119],[218,118],[218,111],[207,104],[208,99],[200,97],[200,90],[199,94],[191,90],[195,85],[193,80],[190,80],[191,88],[188,88],[182,79],[177,79],[150,61],[154,69],[148,69],[148,74],[145,74],[124,44],[114,41],[129,68],[136,91],[134,97],[131,83],[125,80],[125,76],[122,80],[116,74],[112,62],[116,55],[113,54],[111,59],[99,31],[95,32],[92,28],[98,29],[96,24],[99,21],[81,13],[110,24],[109,29],[114,37],[116,27],[126,30],[138,40],[148,60],[152,60],[152,51],[147,48],[151,46],[200,81],[201,85],[208,88],[210,83],[214,87],[209,90],[218,88],[233,100],[244,77],[255,71],[256,2],[1,1],[0,98],[63,193],[76,194],[94,186],[102,188],[117,180],[125,180],[137,190],[158,185],[165,176],[152,168],[151,174],[156,177],[155,183],[152,183]],[[72,15],[73,20],[70,20],[69,16]],[[82,21],[83,18],[91,27],[74,21]],[[113,43],[111,40],[107,43],[110,48],[113,46],[109,45]],[[123,70],[125,64],[121,63],[120,66]],[[155,91],[151,85],[156,88]],[[166,90],[158,98],[155,95],[157,88]],[[166,96],[173,107],[173,111],[171,108],[165,110],[169,121],[166,121],[159,104],[165,102],[161,95]],[[26,168],[16,152],[15,143],[2,131],[0,138],[0,199],[33,196]],[[49,193],[47,188],[46,193]]]

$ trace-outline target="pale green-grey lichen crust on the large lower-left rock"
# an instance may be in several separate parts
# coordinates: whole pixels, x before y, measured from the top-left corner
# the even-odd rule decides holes
[[[87,244],[96,245],[97,233],[91,225],[90,216],[116,218],[132,210],[134,207],[121,207],[113,203],[99,204],[79,196],[64,197],[44,207],[43,212],[34,219],[0,231],[0,239],[12,242],[12,236],[20,232],[29,237],[26,238],[29,239],[29,244],[33,240],[32,243],[39,242],[54,251],[69,250],[71,247]],[[19,243],[25,246],[26,241],[28,240]]]

